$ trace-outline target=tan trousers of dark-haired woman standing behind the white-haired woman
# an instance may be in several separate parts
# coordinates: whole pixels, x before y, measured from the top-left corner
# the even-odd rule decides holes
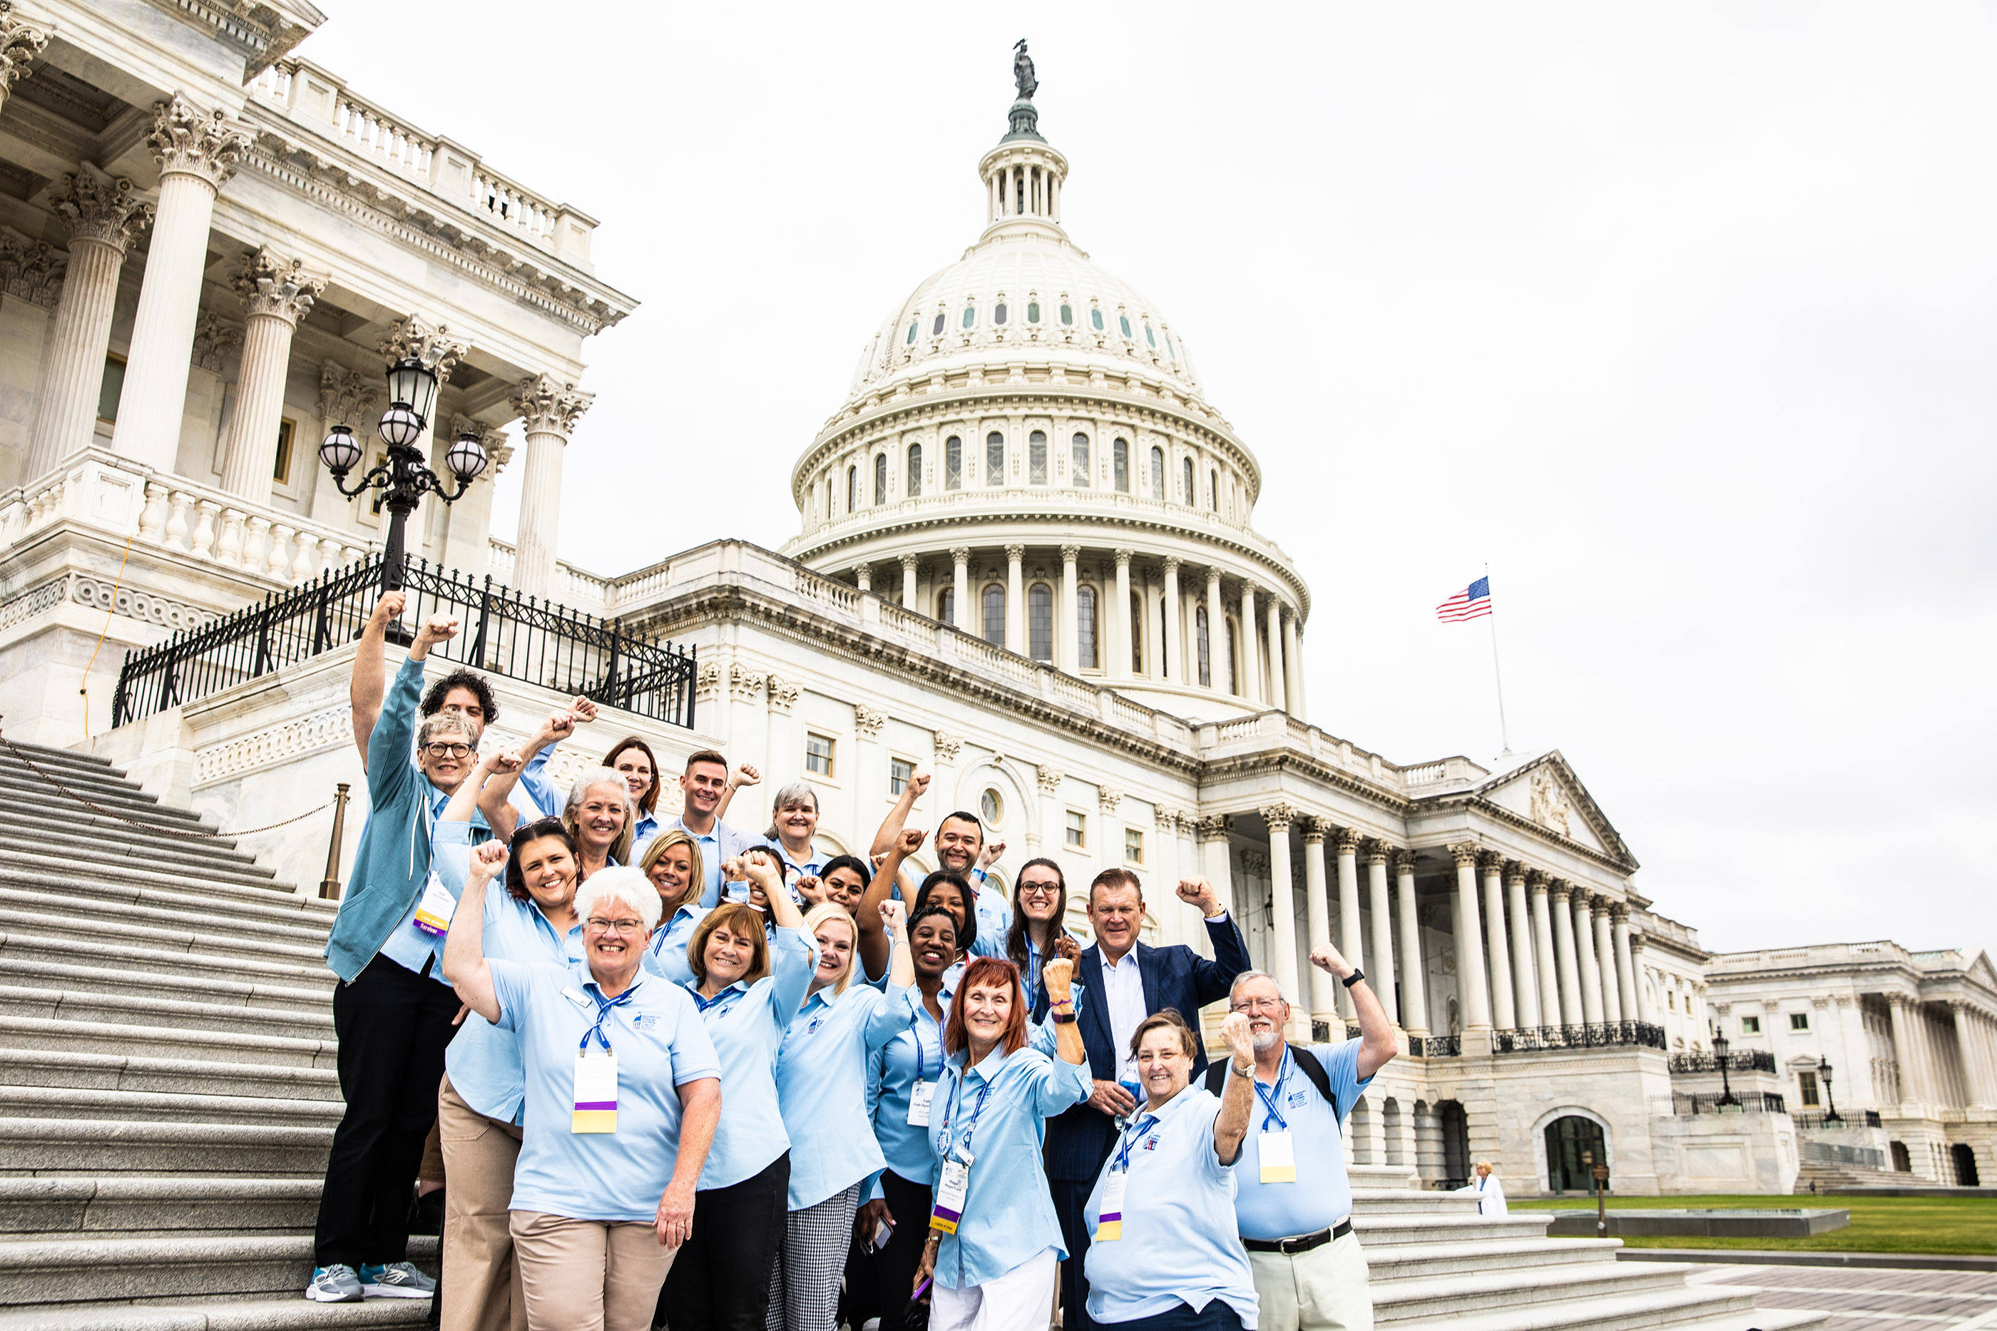
[[[527,1331],[507,1231],[519,1129],[467,1105],[445,1075],[437,1087],[437,1139],[451,1175],[443,1189],[441,1331]]]

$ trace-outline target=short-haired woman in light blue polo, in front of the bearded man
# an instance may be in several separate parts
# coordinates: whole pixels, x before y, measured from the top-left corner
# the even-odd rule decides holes
[[[1130,1037],[1144,1105],[1088,1193],[1088,1317],[1132,1331],[1252,1331],[1254,1275],[1234,1233],[1234,1159],[1254,1105],[1254,1035],[1228,1013],[1226,1089],[1190,1087],[1198,1037],[1174,1009]]]

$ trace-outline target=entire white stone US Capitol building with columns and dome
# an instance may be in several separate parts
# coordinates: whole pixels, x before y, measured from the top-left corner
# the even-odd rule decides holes
[[[601,683],[623,707],[557,775],[623,733],[669,771],[719,747],[769,773],[731,821],[759,825],[751,805],[805,775],[823,839],[859,849],[843,837],[931,769],[915,825],[981,811],[1008,843],[1000,879],[1032,855],[1072,887],[1130,865],[1162,943],[1204,945],[1170,891],[1204,873],[1298,999],[1294,1037],[1350,1015],[1312,943],[1372,977],[1404,1055],[1348,1151],[1434,1185],[1490,1159],[1514,1193],[1586,1189],[1584,1153],[1634,1193],[1789,1191],[1829,1167],[1997,1177],[1981,953],[1707,953],[1638,889],[1558,751],[1400,761],[1312,723],[1310,588],[1254,528],[1262,468],[1186,332],[1062,228],[1070,164],[1024,54],[967,178],[971,246],[885,310],[791,470],[799,534],[603,578],[557,558],[569,432],[621,390],[583,386],[583,342],[637,310],[595,276],[597,220],[298,58],[322,18],[304,0],[4,16],[10,739],[112,757],[210,825],[314,809],[242,843],[302,893],[343,877],[361,809],[328,875],[322,801],[339,781],[365,797],[351,634],[324,614],[278,630],[361,604],[373,574],[347,570],[391,514],[314,450],[343,424],[361,468],[385,460],[381,366],[413,358],[439,382],[421,458],[445,476],[471,440],[489,462],[455,502],[421,502],[407,546],[419,604],[515,608],[475,636],[495,737],[555,689]],[[511,540],[489,522],[505,466],[525,470]],[[613,638],[635,648],[601,666]],[[563,656],[585,640],[595,675]],[[617,673],[663,640],[693,650],[671,705]]]

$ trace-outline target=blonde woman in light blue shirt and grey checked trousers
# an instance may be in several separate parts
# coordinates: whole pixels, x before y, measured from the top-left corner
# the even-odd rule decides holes
[[[853,1211],[861,1187],[885,1165],[867,1121],[867,1065],[915,1021],[915,967],[901,901],[881,901],[875,911],[895,941],[885,989],[851,983],[859,925],[843,905],[825,901],[805,915],[805,931],[819,943],[819,969],[777,1051],[777,1103],[791,1137],[791,1213],[777,1245],[769,1325],[785,1331],[833,1331]]]

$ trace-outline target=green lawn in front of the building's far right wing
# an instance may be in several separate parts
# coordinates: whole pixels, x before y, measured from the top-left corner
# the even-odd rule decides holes
[[[1841,1207],[1851,1213],[1851,1225],[1807,1239],[1624,1239],[1628,1247],[1749,1247],[1769,1251],[1819,1253],[1997,1253],[1997,1197],[1610,1197],[1612,1209],[1669,1207]],[[1514,1211],[1576,1211],[1594,1209],[1594,1201],[1514,1201]]]

